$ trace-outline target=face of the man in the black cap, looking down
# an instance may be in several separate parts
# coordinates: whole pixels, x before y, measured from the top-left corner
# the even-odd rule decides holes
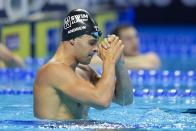
[[[77,61],[81,64],[89,64],[93,55],[98,51],[98,39],[91,35],[82,35],[74,41]]]

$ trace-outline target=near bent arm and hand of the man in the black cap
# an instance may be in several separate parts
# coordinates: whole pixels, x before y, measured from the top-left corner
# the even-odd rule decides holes
[[[99,45],[100,56],[103,59],[103,73],[100,80],[92,83],[78,77],[71,67],[61,65],[51,66],[45,76],[51,76],[46,80],[49,85],[60,89],[63,93],[74,100],[95,107],[106,108],[110,105],[115,90],[115,63],[123,51],[124,45],[116,37],[111,48],[105,50]]]

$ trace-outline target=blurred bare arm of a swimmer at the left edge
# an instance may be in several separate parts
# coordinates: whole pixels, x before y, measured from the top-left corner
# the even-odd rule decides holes
[[[0,43],[0,68],[24,67],[23,60]]]

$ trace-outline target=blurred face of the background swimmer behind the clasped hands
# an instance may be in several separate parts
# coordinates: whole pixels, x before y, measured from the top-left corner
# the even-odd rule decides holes
[[[125,56],[135,56],[139,54],[139,39],[137,31],[132,28],[122,29],[120,32],[120,39],[125,45],[124,55]]]

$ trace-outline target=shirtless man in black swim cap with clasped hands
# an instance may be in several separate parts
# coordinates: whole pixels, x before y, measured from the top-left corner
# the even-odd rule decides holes
[[[132,103],[132,87],[121,56],[124,46],[115,35],[98,45],[100,35],[87,11],[76,9],[67,15],[62,42],[34,83],[37,118],[85,119],[89,107],[105,109],[112,101],[122,106]],[[88,65],[96,52],[103,60],[101,77]]]

